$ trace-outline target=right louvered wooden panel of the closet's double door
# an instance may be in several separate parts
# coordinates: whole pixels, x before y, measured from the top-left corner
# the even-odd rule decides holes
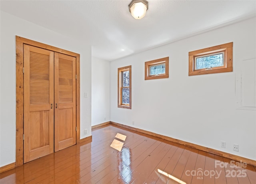
[[[76,144],[76,58],[54,54],[54,151]]]

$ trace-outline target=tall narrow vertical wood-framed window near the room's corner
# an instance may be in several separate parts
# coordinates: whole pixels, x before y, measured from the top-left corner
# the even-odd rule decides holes
[[[132,66],[118,68],[118,107],[131,109]]]

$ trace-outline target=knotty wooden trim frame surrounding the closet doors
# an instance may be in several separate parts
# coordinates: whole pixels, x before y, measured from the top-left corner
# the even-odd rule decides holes
[[[76,144],[80,142],[80,54],[16,36],[16,167],[23,165],[24,44],[76,57]]]

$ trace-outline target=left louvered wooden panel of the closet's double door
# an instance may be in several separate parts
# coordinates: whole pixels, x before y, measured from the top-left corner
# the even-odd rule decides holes
[[[54,152],[54,52],[24,44],[24,163]]]

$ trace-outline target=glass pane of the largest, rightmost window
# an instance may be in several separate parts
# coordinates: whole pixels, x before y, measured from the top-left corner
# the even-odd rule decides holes
[[[214,54],[211,56],[196,57],[196,70],[202,68],[224,66],[223,53]]]

